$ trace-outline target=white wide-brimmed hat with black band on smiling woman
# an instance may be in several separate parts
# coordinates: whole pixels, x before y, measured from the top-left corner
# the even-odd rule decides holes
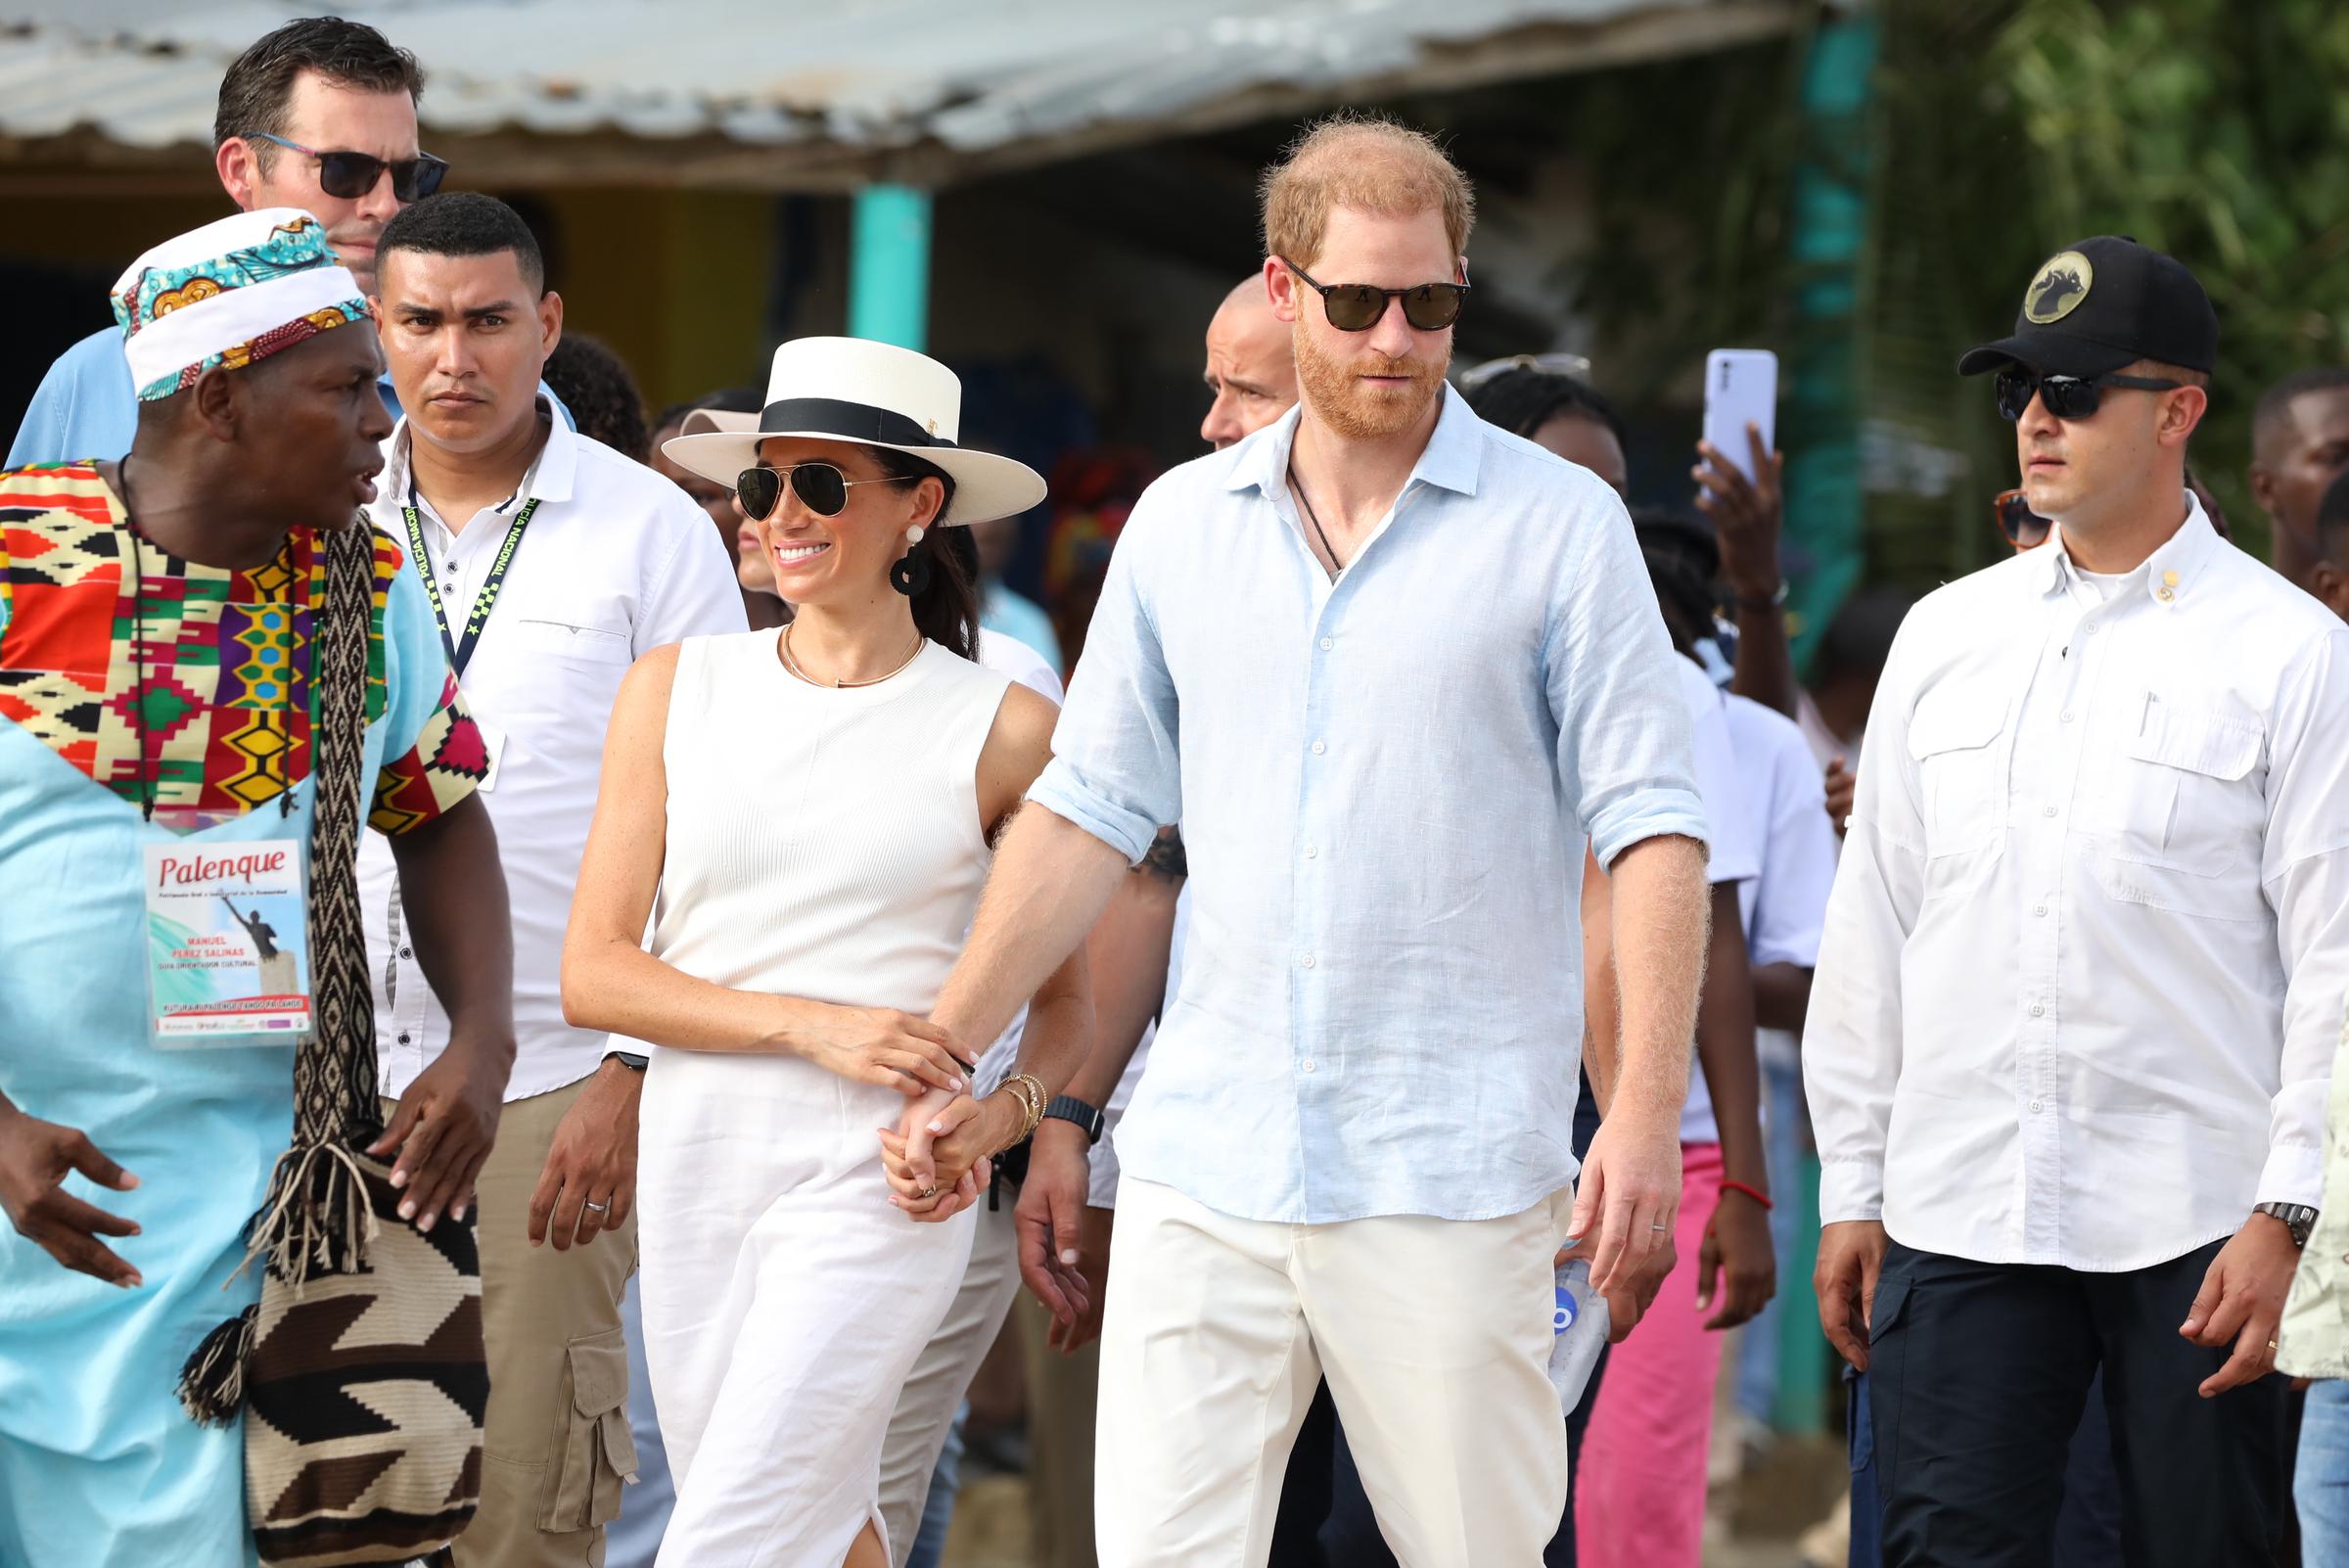
[[[1027,462],[956,446],[963,383],[954,371],[893,343],[867,338],[792,338],[766,376],[766,411],[686,418],[695,434],[669,437],[660,451],[677,467],[733,486],[759,462],[759,441],[806,437],[886,446],[942,469],[954,500],[940,526],[1017,516],[1043,500],[1043,474]]]

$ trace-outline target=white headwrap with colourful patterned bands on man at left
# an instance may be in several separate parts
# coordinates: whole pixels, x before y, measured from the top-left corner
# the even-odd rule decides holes
[[[298,207],[240,211],[164,239],[115,279],[110,298],[141,401],[193,387],[216,364],[258,364],[373,319],[327,230]]]

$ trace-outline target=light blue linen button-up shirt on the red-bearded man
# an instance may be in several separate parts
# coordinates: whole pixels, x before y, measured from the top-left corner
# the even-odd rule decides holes
[[[1250,1221],[1520,1214],[1574,1181],[1581,871],[1703,840],[1689,704],[1614,491],[1449,387],[1330,582],[1297,413],[1135,505],[1029,791],[1191,932],[1125,1174]]]

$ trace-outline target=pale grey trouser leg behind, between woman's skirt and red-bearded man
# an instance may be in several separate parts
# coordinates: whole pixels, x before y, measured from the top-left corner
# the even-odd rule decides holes
[[[890,1561],[897,1568],[914,1554],[930,1476],[947,1448],[954,1413],[963,1408],[963,1394],[980,1376],[980,1361],[1003,1331],[1017,1293],[1019,1235],[1012,1230],[1012,1192],[1005,1190],[1001,1209],[980,1199],[963,1289],[954,1293],[947,1322],[921,1347],[914,1373],[897,1394],[897,1411],[888,1418],[888,1439],[881,1444],[881,1519],[888,1521]]]

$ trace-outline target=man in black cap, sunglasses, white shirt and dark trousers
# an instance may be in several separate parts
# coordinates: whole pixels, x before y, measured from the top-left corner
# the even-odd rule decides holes
[[[2131,1563],[2267,1561],[2283,1521],[2349,629],[2187,493],[2215,357],[2194,277],[2100,237],[1959,361],[2055,533],[1900,627],[1804,1038],[1818,1312],[1870,1371],[1893,1566],[2046,1566],[2098,1368]]]

